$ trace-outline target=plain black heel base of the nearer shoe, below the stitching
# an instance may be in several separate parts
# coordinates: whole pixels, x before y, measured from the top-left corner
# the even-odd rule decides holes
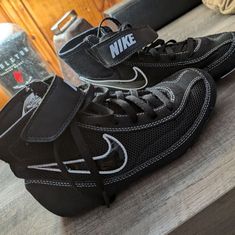
[[[81,215],[103,204],[101,195],[96,193],[94,188],[79,191],[79,188],[72,186],[28,182],[25,187],[43,207],[62,217]]]

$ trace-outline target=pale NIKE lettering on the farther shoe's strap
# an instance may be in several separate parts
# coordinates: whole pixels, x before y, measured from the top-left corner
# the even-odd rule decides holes
[[[133,33],[127,34],[124,37],[121,37],[116,42],[109,46],[112,58],[114,59],[121,52],[125,51],[128,47],[136,44]]]

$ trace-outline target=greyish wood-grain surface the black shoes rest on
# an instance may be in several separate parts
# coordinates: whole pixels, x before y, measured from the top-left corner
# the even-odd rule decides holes
[[[218,15],[200,6],[159,33],[166,39],[183,39],[222,31],[235,31],[235,16]],[[110,209],[99,207],[72,219],[57,217],[42,208],[26,192],[23,181],[0,162],[0,234],[167,234],[231,192],[235,187],[234,155],[235,74],[232,74],[218,82],[215,111],[193,148],[133,184]],[[203,226],[199,229],[197,234],[208,235],[203,233]],[[188,230],[181,226],[180,231]],[[231,224],[226,226],[223,235],[226,234],[234,234]]]

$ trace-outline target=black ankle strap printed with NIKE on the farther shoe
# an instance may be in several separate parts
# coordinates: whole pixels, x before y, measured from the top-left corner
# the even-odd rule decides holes
[[[149,26],[128,28],[114,33],[106,40],[92,46],[88,51],[101,64],[110,68],[128,59],[157,38]]]

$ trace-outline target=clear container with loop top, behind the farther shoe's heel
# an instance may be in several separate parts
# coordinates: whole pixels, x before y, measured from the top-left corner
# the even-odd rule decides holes
[[[71,38],[91,27],[85,19],[78,17],[75,10],[67,12],[51,27],[56,51],[58,52]],[[63,78],[78,86],[81,83],[78,75],[63,60],[59,59],[59,61]]]

